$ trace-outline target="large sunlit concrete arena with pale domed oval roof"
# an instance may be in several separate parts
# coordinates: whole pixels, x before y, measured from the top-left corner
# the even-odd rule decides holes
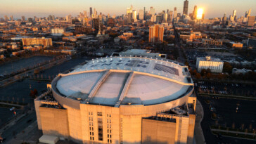
[[[196,97],[181,63],[98,58],[58,74],[48,87],[34,100],[44,135],[77,143],[193,143]]]

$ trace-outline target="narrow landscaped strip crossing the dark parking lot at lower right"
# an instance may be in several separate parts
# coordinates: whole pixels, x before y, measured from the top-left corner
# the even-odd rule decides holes
[[[241,129],[231,129],[229,127],[221,127],[221,126],[210,126],[212,134],[222,136],[229,136],[234,138],[243,138],[243,139],[250,139],[256,140],[256,131],[248,131],[248,130],[241,130]]]

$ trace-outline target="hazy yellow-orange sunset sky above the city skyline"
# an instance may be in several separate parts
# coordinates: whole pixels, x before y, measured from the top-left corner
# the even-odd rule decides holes
[[[76,16],[79,12],[89,12],[89,7],[96,8],[98,13],[107,15],[122,15],[132,4],[135,10],[146,11],[153,6],[156,13],[169,9],[173,11],[177,7],[178,13],[183,11],[184,0],[0,0],[0,18],[4,15],[13,15],[13,18],[47,17],[48,15],[65,16],[71,14]],[[239,17],[245,15],[245,11],[252,8],[251,15],[256,15],[256,0],[190,0],[188,13],[192,13],[193,7],[197,5],[203,8],[205,18],[222,17],[224,13],[231,15],[236,9]]]

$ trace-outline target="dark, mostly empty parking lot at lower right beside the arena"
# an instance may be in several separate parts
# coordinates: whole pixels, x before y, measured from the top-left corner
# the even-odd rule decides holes
[[[212,134],[210,126],[222,126],[231,129],[256,129],[256,105],[255,101],[236,100],[228,98],[212,98],[209,96],[198,96],[203,110],[204,117],[201,122],[206,143],[255,143],[255,140],[241,138],[230,138]],[[213,109],[211,109],[213,107]],[[238,110],[237,110],[238,107]],[[217,114],[216,119],[212,119],[212,113]]]

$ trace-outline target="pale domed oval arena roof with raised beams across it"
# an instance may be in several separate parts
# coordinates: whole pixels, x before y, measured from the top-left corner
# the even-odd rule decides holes
[[[165,103],[193,86],[186,66],[152,58],[99,58],[59,76],[63,96],[115,107]]]

